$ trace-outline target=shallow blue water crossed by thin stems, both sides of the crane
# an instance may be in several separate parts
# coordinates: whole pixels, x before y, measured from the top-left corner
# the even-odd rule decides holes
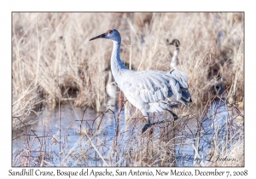
[[[29,155],[28,162],[32,166],[130,165],[132,162],[122,157],[122,154],[131,153],[137,147],[142,147],[140,150],[143,151],[144,144],[140,142],[144,123],[139,120],[128,123],[125,110],[121,110],[118,118],[119,109],[113,101],[109,101],[107,107],[111,109],[107,113],[73,107],[69,103],[61,105],[60,113],[58,109],[45,109],[26,125],[26,132],[24,128],[13,130],[13,164],[24,164],[19,156],[26,158]],[[184,120],[181,123],[183,130],[177,132],[175,140],[175,165],[196,166],[206,163],[213,138],[218,138],[221,151],[226,143],[227,126],[232,120],[229,108],[220,101],[212,103],[200,121],[195,118]],[[159,126],[161,128],[163,124]],[[161,138],[160,132],[154,135],[155,140]],[[197,148],[198,155],[193,146]]]

